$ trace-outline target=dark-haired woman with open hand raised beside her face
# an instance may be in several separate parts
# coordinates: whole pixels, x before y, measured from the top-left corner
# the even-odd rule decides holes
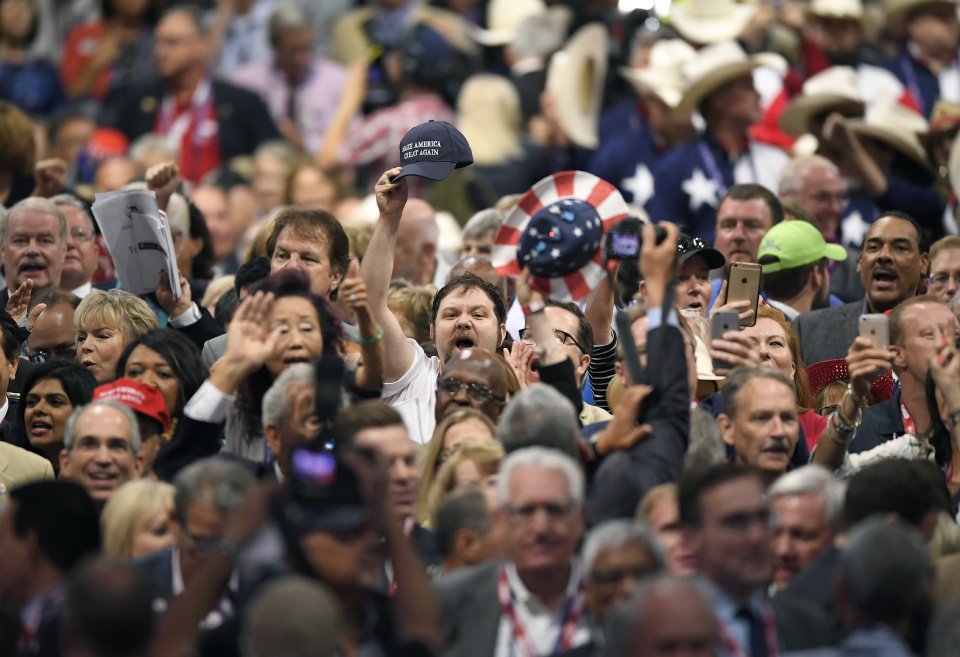
[[[348,297],[362,317],[356,340],[364,363],[355,370],[347,366],[348,382],[351,374],[354,379],[348,385],[355,391],[375,389],[378,395],[383,331],[370,318],[362,282],[351,283]],[[264,393],[294,363],[339,357],[342,340],[339,314],[326,297],[310,292],[307,274],[298,268],[278,271],[252,286],[237,308],[227,331],[226,351],[188,406],[197,411],[195,417],[225,421],[224,451],[271,463],[261,420]],[[234,395],[236,403],[231,405]]]

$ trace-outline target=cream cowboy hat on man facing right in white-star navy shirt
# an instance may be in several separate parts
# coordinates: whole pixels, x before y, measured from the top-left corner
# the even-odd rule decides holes
[[[747,55],[736,41],[714,43],[698,50],[696,57],[683,65],[686,89],[677,104],[677,113],[694,112],[714,91],[761,66],[768,66],[781,74],[787,70],[787,62],[780,55]]]

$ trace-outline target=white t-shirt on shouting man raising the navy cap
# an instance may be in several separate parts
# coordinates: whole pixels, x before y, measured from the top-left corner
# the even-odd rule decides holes
[[[414,348],[413,364],[399,379],[383,384],[380,398],[403,417],[410,439],[423,444],[433,437],[437,424],[433,414],[437,403],[440,359],[427,357],[416,340],[407,338],[407,342]]]

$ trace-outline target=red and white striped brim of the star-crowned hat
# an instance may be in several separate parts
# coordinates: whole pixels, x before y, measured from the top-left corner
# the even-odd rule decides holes
[[[630,214],[617,188],[602,178],[586,171],[561,171],[537,182],[528,189],[516,205],[507,212],[503,224],[494,237],[490,259],[501,276],[519,276],[522,267],[517,259],[517,247],[530,219],[543,208],[565,198],[575,198],[592,205],[600,217],[601,231],[606,234],[611,226]],[[598,250],[580,269],[558,278],[534,277],[532,286],[551,299],[578,301],[586,297],[607,275],[603,256]]]

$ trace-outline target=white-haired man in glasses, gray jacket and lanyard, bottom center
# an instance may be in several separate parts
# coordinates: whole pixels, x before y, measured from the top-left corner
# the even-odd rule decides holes
[[[580,466],[556,450],[528,447],[504,460],[497,514],[505,559],[454,573],[437,588],[448,654],[552,655],[590,643],[576,559],[583,487]]]

